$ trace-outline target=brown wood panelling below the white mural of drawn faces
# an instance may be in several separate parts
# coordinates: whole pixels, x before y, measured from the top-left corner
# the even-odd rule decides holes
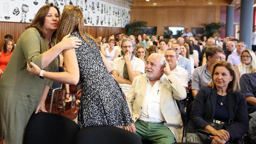
[[[19,36],[25,31],[29,23],[0,22],[0,46],[3,46],[4,36],[10,34],[17,43]],[[109,37],[112,33],[125,33],[125,28],[85,26],[85,31],[97,38],[97,36]]]

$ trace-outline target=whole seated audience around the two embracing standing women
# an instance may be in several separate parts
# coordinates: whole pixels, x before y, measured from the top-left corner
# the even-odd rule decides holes
[[[216,44],[214,38],[208,38],[205,46],[200,46],[197,38],[185,39],[172,38],[167,43],[163,36],[156,40],[154,34],[136,38],[117,34],[109,40],[96,39],[126,95],[134,124],[125,129],[136,132],[142,140],[181,142],[184,122],[177,102],[187,97],[191,81],[195,99],[187,141],[204,143],[196,134],[197,129],[211,132],[216,143],[242,140],[249,127],[248,114],[256,110],[255,53],[238,40],[231,39],[220,46],[220,42]],[[13,49],[13,40],[6,39],[0,66]],[[1,74],[3,71],[0,67]],[[227,128],[215,129],[224,122],[228,123]]]

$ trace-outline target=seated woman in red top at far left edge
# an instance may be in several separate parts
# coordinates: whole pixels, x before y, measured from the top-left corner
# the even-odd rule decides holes
[[[8,64],[14,49],[14,41],[7,39],[3,45],[3,51],[0,52],[0,74],[2,76],[6,65]]]

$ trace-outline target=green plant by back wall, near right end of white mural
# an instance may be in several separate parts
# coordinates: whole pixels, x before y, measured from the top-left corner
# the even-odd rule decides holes
[[[138,30],[144,30],[144,26],[147,24],[147,22],[144,21],[137,21],[134,19],[134,21],[131,24],[127,24],[125,26],[127,35],[135,35],[138,33]]]

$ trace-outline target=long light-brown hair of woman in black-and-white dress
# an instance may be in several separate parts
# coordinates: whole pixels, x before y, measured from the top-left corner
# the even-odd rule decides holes
[[[89,41],[84,37],[87,36],[95,40],[91,35],[84,31],[83,12],[78,6],[68,5],[63,9],[61,20],[57,30],[57,43],[62,40],[67,34],[78,30],[81,37],[90,45]]]

